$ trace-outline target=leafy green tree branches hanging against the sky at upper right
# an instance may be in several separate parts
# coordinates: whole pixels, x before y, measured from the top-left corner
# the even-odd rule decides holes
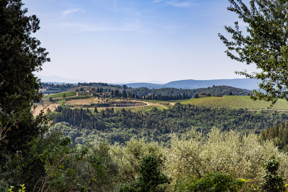
[[[251,0],[245,5],[242,0],[229,0],[229,11],[235,12],[248,26],[242,33],[236,21],[235,28],[225,26],[232,41],[218,34],[228,47],[231,59],[255,64],[262,71],[251,74],[247,71],[235,72],[249,78],[259,79],[259,88],[265,94],[253,90],[251,98],[272,101],[278,98],[288,100],[288,2],[286,0]]]

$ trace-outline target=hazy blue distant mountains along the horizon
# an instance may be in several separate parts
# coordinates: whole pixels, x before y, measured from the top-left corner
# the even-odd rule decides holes
[[[58,77],[56,75],[53,76],[41,76],[37,75],[42,82],[51,82],[54,84],[65,84],[65,83],[73,83],[77,84],[78,82],[86,82],[85,80],[79,79],[67,79],[63,77]],[[139,87],[147,87],[149,89],[160,89],[160,88],[182,88],[182,89],[197,89],[197,88],[207,88],[212,87],[213,85],[227,85],[235,88],[242,89],[259,89],[257,79],[214,79],[214,80],[179,80],[179,81],[171,81],[169,83],[164,83],[160,81],[148,81],[146,83],[108,83],[112,85],[127,85],[127,87],[139,88]],[[133,82],[133,81],[130,81]],[[135,82],[135,81],[134,81]],[[153,82],[153,83],[152,83]]]

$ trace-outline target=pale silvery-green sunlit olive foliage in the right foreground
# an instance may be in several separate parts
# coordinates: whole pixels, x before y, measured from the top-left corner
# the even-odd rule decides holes
[[[259,143],[255,134],[241,136],[235,131],[221,132],[219,128],[213,128],[207,137],[192,130],[185,136],[172,136],[171,147],[164,151],[163,173],[175,184],[179,178],[200,179],[205,174],[221,172],[251,180],[242,188],[249,191],[249,185],[260,185],[264,160],[270,154],[279,160],[278,174],[287,178],[288,156],[279,152],[272,141]]]

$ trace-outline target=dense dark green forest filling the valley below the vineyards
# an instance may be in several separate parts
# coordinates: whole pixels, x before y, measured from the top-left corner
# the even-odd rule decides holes
[[[97,111],[97,110],[96,110]],[[64,131],[76,143],[105,138],[112,143],[125,143],[131,138],[148,141],[169,142],[170,133],[185,133],[191,127],[205,134],[214,126],[223,131],[237,130],[241,133],[259,134],[268,126],[288,120],[287,112],[247,111],[245,109],[196,108],[176,103],[169,109],[152,109],[146,113],[135,113],[113,108],[102,111],[58,107],[51,113],[55,127]]]

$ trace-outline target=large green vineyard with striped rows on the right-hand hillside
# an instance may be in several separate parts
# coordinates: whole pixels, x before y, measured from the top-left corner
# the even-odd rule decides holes
[[[226,109],[248,109],[258,110],[266,109],[271,102],[252,100],[249,96],[223,96],[223,97],[204,97],[197,99],[189,99],[180,101],[181,104],[195,105],[196,107],[209,107],[212,109],[226,108]],[[288,101],[278,99],[276,104],[270,109],[288,111]]]

